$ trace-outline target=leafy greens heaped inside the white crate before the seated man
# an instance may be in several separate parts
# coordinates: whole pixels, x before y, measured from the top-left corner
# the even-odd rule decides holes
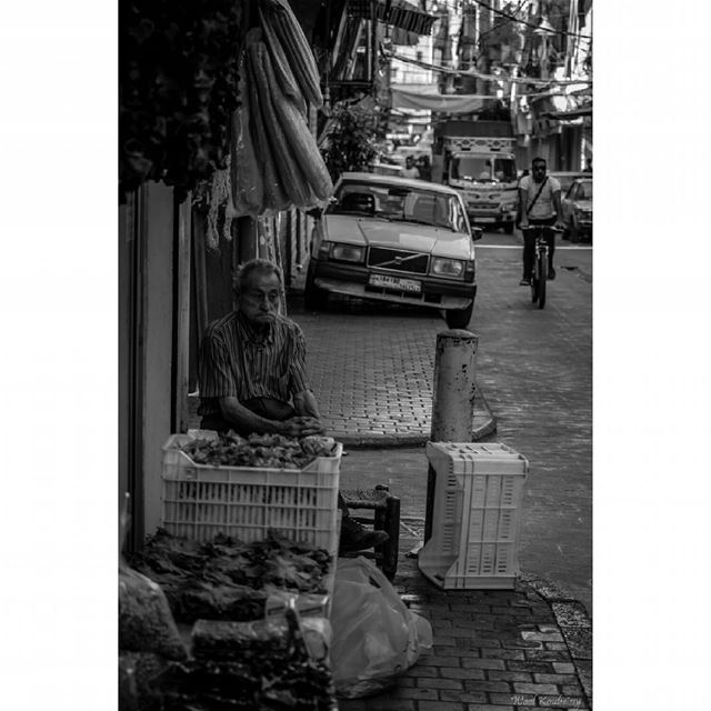
[[[253,433],[243,438],[228,432],[217,440],[194,439],[180,449],[196,464],[303,469],[319,457],[332,457],[334,447],[334,441],[326,437],[300,440],[281,434]]]

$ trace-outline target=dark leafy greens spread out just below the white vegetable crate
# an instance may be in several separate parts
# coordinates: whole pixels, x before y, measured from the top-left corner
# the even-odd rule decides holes
[[[160,584],[181,622],[253,620],[274,592],[326,593],[331,557],[274,532],[252,543],[223,534],[199,543],[159,529],[131,564]]]

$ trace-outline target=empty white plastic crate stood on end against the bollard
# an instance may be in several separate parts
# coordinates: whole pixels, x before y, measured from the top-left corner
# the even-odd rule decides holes
[[[428,442],[437,472],[420,571],[444,589],[513,588],[528,461],[505,444]]]

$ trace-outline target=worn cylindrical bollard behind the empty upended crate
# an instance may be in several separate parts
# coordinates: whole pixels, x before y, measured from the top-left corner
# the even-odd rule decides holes
[[[430,431],[432,442],[471,442],[478,343],[477,336],[462,329],[437,334]],[[429,467],[424,509],[425,543],[432,535],[434,481],[434,469]]]

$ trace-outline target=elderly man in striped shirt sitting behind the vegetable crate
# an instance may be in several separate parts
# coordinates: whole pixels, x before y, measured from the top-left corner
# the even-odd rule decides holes
[[[279,313],[281,271],[254,259],[241,267],[236,311],[210,323],[200,350],[200,427],[239,434],[323,434],[306,371],[306,340],[297,323]],[[341,509],[340,551],[380,545],[383,531],[364,529]]]

